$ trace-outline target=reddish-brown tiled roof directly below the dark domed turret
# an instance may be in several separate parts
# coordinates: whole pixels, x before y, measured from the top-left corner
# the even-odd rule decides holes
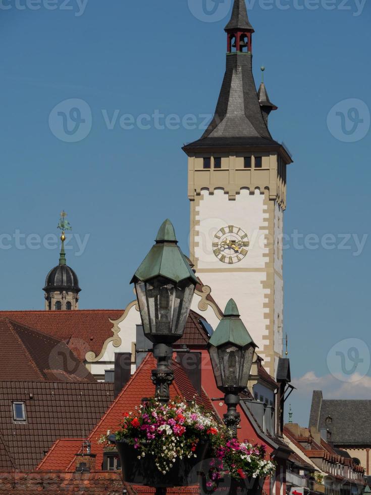
[[[9,318],[65,341],[84,360],[88,351],[100,353],[104,341],[113,335],[110,319],[118,320],[123,314],[124,310],[0,311],[0,318]]]

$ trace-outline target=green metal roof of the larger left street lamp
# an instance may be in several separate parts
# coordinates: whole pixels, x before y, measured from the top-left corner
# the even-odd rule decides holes
[[[174,282],[190,278],[195,284],[198,280],[188,261],[178,246],[173,224],[165,220],[158,230],[156,243],[152,246],[131,282],[142,282],[163,276]]]

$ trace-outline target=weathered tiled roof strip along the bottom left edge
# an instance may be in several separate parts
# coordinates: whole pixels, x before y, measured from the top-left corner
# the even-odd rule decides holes
[[[0,495],[122,495],[118,473],[0,473]]]

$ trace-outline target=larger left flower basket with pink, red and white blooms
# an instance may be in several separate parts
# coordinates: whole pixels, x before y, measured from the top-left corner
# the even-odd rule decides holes
[[[125,481],[147,486],[186,486],[198,482],[208,446],[219,434],[215,417],[197,406],[155,399],[136,414],[125,413],[116,443]]]

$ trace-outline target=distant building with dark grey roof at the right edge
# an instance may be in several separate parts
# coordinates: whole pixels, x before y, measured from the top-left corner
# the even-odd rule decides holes
[[[371,474],[371,400],[327,400],[313,390],[309,428],[346,451],[353,462]]]

